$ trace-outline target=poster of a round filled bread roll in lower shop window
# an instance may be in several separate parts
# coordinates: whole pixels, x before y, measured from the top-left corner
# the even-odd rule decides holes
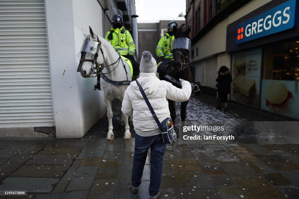
[[[299,119],[298,86],[298,81],[263,79],[261,109]]]

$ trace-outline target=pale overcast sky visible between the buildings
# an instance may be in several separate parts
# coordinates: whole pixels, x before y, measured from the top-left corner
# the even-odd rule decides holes
[[[165,17],[177,17],[179,13],[186,14],[184,0],[135,0],[136,14],[141,20],[159,20]]]

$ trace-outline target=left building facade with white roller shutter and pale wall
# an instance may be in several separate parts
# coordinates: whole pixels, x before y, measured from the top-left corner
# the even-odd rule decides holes
[[[81,138],[106,113],[96,79],[81,77],[77,66],[83,31],[104,37],[113,8],[138,42],[134,1],[1,3],[1,137]]]

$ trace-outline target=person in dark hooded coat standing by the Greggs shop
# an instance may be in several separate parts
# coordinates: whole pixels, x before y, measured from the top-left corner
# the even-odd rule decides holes
[[[218,82],[218,107],[216,107],[216,109],[221,109],[221,102],[223,102],[225,106],[224,111],[226,112],[228,94],[231,93],[231,82],[233,81],[233,79],[231,78],[231,73],[229,72],[229,69],[226,66],[220,67],[216,81]]]

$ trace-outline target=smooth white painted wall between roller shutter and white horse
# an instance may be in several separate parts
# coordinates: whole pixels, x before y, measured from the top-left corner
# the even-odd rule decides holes
[[[106,112],[95,78],[77,72],[84,39],[81,28],[102,33],[96,0],[45,0],[51,87],[57,138],[81,138]]]

